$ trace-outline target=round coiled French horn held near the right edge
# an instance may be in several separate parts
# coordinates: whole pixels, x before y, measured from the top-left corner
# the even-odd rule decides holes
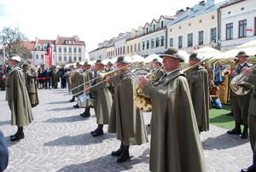
[[[249,69],[253,71],[255,66],[251,66]],[[236,77],[233,77],[230,83],[230,89],[236,94],[236,95],[247,95],[251,89],[253,88],[251,84],[247,84],[248,77],[244,75],[242,72],[239,75],[236,75]]]

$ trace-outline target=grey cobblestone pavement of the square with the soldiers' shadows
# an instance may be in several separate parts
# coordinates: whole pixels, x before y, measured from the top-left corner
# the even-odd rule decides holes
[[[75,109],[67,89],[38,90],[40,105],[34,107],[34,121],[24,129],[25,139],[11,142],[16,132],[10,125],[10,111],[5,91],[0,91],[0,129],[9,146],[9,166],[5,171],[148,171],[149,143],[131,146],[131,160],[116,163],[110,153],[119,148],[114,134],[93,137],[96,129],[94,110],[90,118],[81,118],[84,109]],[[144,113],[145,123],[150,114]],[[226,129],[211,125],[201,133],[207,171],[240,171],[252,163],[249,140],[227,135]],[[148,129],[148,127],[147,127]],[[148,129],[148,140],[150,140]],[[189,146],[189,143],[188,143]]]

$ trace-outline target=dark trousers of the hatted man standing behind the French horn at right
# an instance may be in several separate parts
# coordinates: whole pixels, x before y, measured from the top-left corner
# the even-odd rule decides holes
[[[236,123],[248,124],[248,109],[250,106],[250,94],[234,95],[231,93],[231,105]]]

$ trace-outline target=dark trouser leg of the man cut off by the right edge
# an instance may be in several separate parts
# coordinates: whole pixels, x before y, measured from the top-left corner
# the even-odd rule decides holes
[[[256,153],[256,116],[249,115],[248,117],[248,124],[250,130],[250,142],[253,149],[253,154]]]

